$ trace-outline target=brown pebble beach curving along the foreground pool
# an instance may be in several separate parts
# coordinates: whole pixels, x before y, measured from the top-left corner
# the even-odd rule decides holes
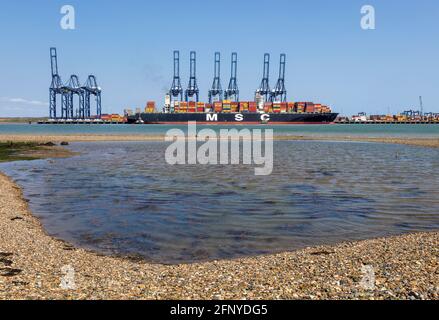
[[[186,265],[48,236],[0,174],[0,299],[438,299],[439,233]]]

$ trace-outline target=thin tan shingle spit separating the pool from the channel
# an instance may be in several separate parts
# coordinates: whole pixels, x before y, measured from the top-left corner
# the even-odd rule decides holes
[[[73,135],[31,135],[31,134],[0,134],[0,141],[13,142],[96,142],[96,141],[163,141],[163,135],[98,135],[98,134],[73,134]],[[413,145],[421,147],[439,148],[439,138],[394,138],[394,137],[357,137],[357,136],[303,136],[303,135],[276,135],[277,141],[354,141],[376,142]]]

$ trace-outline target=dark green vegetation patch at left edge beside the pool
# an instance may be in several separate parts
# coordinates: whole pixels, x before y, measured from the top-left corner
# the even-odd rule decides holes
[[[0,142],[0,162],[35,160],[40,159],[38,155],[32,155],[44,149],[44,147],[53,146],[51,143],[37,142]]]

